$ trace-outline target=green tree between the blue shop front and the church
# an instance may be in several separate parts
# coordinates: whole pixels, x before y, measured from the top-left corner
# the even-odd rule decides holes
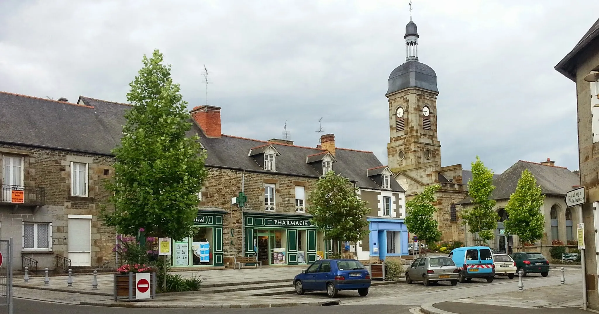
[[[440,188],[438,184],[428,185],[420,194],[406,202],[406,220],[404,223],[410,233],[416,234],[419,240],[425,243],[437,242],[441,239],[438,222],[433,219],[437,208],[432,205],[437,198],[435,191]],[[420,250],[419,250],[420,251]]]

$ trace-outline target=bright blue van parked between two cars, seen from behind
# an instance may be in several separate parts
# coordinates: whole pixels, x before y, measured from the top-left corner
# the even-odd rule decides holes
[[[485,278],[493,282],[495,277],[495,264],[493,253],[488,246],[465,246],[455,248],[449,257],[460,270],[458,281],[464,283],[472,278]]]

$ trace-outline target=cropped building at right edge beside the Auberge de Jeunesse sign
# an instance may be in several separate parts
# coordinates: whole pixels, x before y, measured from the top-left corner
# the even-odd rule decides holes
[[[582,206],[585,227],[588,306],[599,310],[599,20],[582,36],[555,69],[576,83],[580,185],[586,188]]]

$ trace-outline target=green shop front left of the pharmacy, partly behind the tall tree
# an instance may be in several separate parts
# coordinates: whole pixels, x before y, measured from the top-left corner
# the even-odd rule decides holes
[[[173,241],[172,267],[223,266],[223,215],[226,211],[198,211],[195,233]]]

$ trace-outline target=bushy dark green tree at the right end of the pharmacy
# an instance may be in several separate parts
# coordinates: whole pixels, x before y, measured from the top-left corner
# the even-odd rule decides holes
[[[329,171],[316,182],[308,197],[311,222],[333,240],[334,254],[340,253],[338,242],[358,242],[368,232],[364,216],[370,212],[367,202],[358,198],[358,188],[349,179]]]

